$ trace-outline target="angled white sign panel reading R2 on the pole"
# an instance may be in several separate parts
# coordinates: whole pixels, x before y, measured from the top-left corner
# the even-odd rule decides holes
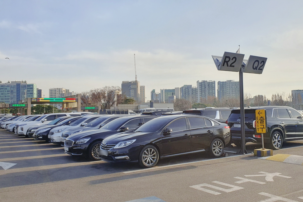
[[[239,72],[244,58],[244,54],[224,52],[223,57],[212,57],[218,70]]]

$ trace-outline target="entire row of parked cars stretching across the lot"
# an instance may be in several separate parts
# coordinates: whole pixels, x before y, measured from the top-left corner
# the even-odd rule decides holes
[[[302,114],[291,107],[266,106],[245,109],[246,142],[262,141],[254,128],[256,109],[267,111],[264,142],[268,148],[303,139]],[[61,144],[72,156],[153,167],[159,158],[204,151],[220,157],[232,141],[241,146],[240,121],[240,109],[205,108],[161,117],[83,112],[5,117],[0,126],[34,140]]]

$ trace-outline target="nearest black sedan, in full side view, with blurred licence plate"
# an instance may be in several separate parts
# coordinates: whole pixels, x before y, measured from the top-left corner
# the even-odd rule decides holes
[[[107,162],[139,162],[141,167],[153,167],[160,157],[204,151],[220,157],[230,143],[227,124],[198,115],[170,115],[105,138],[99,154]]]

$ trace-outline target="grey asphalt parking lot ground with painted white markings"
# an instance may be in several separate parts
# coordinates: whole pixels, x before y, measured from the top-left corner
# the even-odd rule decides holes
[[[261,147],[253,143],[246,146],[249,153]],[[228,157],[216,159],[206,152],[165,158],[156,167],[142,169],[137,164],[72,157],[63,153],[59,145],[0,130],[0,199],[125,202],[152,197],[149,201],[262,201],[268,199],[268,194],[288,194],[284,198],[303,201],[298,198],[303,197],[302,165],[268,161],[252,154],[238,155],[239,150],[232,145],[225,149]],[[281,150],[274,151],[284,153],[303,156],[303,141],[283,143]],[[266,181],[266,176],[245,177],[266,175],[259,172],[282,173],[291,178],[272,175],[273,182]],[[235,183],[243,181],[241,178],[259,183]],[[290,194],[293,192],[296,194]]]

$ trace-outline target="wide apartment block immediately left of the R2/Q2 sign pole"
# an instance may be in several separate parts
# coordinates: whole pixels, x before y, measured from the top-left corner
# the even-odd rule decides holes
[[[218,81],[217,97],[219,100],[223,98],[239,98],[239,82],[234,80]]]

